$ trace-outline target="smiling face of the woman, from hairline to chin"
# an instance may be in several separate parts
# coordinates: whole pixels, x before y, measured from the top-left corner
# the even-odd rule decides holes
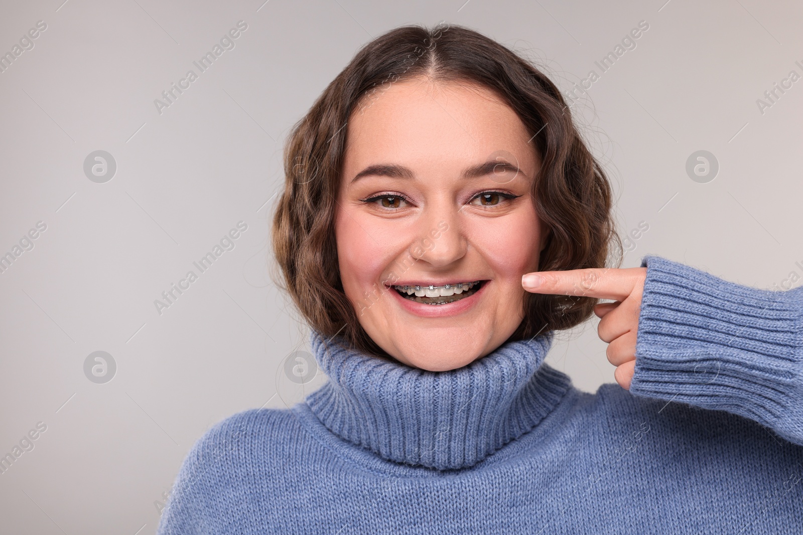
[[[397,82],[353,113],[335,221],[340,278],[361,326],[395,359],[452,370],[520,325],[521,276],[538,269],[546,237],[529,140],[516,112],[475,84]]]

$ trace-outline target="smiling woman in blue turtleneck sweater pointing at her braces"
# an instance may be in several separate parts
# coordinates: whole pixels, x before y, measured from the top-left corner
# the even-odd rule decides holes
[[[605,268],[609,184],[532,65],[389,31],[285,171],[275,255],[329,381],[207,432],[159,533],[801,533],[803,294]],[[595,394],[544,363],[592,312]]]

